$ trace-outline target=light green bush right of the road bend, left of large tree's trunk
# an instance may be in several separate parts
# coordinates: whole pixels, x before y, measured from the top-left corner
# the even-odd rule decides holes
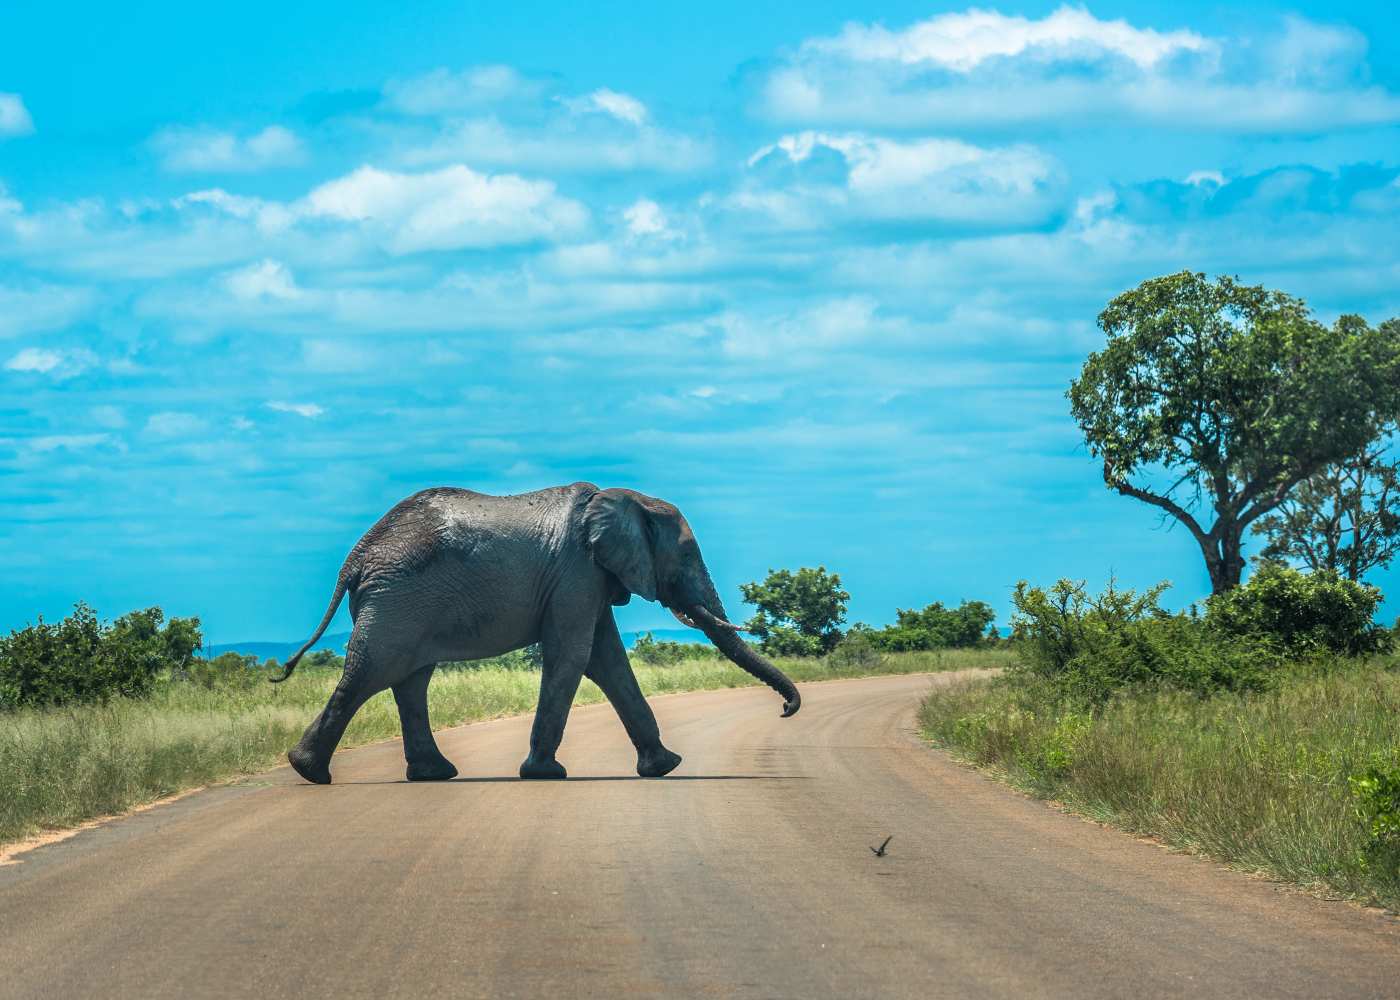
[[[1128,686],[1198,695],[1266,688],[1281,661],[1273,646],[1253,636],[1219,641],[1200,619],[1163,611],[1158,599],[1168,585],[1137,594],[1110,581],[1091,597],[1084,581],[1044,590],[1022,580],[1011,619],[1019,669],[1088,704]]]

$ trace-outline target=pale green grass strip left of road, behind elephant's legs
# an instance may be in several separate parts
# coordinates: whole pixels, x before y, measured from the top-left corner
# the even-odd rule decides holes
[[[822,660],[778,665],[794,681],[820,681],[1005,661],[1004,653],[972,650],[906,653],[865,667],[841,668]],[[638,664],[636,672],[648,695],[757,683],[722,660]],[[171,682],[143,700],[0,714],[0,842],[274,766],[325,704],[337,678],[339,672],[302,669],[281,685],[253,676],[237,688]],[[440,669],[428,693],[433,725],[529,711],[538,688],[539,675],[529,671]],[[598,688],[585,681],[575,703],[601,700]],[[343,745],[396,735],[399,717],[385,692],[358,711]]]

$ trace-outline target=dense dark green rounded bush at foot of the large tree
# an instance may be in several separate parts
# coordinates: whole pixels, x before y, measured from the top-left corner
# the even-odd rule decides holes
[[[1333,571],[1261,564],[1249,583],[1207,601],[1205,622],[1225,639],[1267,637],[1289,657],[1376,653],[1390,643],[1372,623],[1380,591]]]

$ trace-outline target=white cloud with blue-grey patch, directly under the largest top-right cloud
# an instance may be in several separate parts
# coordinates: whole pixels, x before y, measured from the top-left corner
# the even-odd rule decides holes
[[[955,139],[895,140],[802,132],[749,157],[756,181],[729,199],[790,228],[834,220],[1032,221],[1053,206],[1060,169],[1032,146],[984,148]]]

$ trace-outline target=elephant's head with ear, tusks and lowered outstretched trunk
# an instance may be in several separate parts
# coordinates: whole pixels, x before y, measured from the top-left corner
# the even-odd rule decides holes
[[[594,560],[626,592],[659,601],[682,625],[704,632],[729,660],[783,696],[784,717],[801,707],[792,682],[729,625],[700,545],[679,510],[634,490],[602,490],[584,508],[584,528]]]

